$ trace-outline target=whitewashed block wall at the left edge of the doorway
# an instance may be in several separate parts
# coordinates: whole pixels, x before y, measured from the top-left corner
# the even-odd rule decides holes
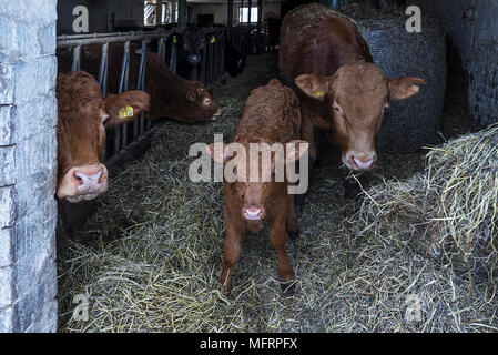
[[[55,0],[0,0],[0,332],[57,329]]]

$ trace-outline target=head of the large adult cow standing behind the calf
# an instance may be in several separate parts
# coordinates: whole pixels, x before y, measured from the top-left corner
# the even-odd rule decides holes
[[[375,165],[375,140],[388,100],[404,100],[418,93],[420,78],[388,79],[374,63],[341,67],[332,77],[299,75],[296,85],[308,97],[326,102],[333,121],[334,139],[343,163],[354,171]]]

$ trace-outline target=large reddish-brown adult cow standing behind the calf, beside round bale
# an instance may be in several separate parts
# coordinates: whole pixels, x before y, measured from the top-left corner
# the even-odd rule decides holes
[[[374,63],[359,27],[318,4],[286,14],[281,29],[281,77],[298,93],[302,138],[316,159],[315,129],[324,130],[342,151],[343,163],[364,171],[374,166],[375,140],[388,99],[404,100],[419,91],[419,78],[388,79]]]

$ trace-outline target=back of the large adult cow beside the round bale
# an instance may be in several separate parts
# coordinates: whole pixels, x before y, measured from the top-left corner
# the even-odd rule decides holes
[[[294,88],[301,74],[332,75],[348,62],[373,62],[357,23],[319,3],[297,7],[285,16],[278,54],[281,78]]]

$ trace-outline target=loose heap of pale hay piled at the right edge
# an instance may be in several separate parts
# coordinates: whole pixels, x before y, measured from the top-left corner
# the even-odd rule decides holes
[[[353,234],[410,240],[457,277],[496,293],[498,271],[498,125],[457,138],[427,154],[425,174],[365,192]],[[358,223],[360,222],[360,223]]]

